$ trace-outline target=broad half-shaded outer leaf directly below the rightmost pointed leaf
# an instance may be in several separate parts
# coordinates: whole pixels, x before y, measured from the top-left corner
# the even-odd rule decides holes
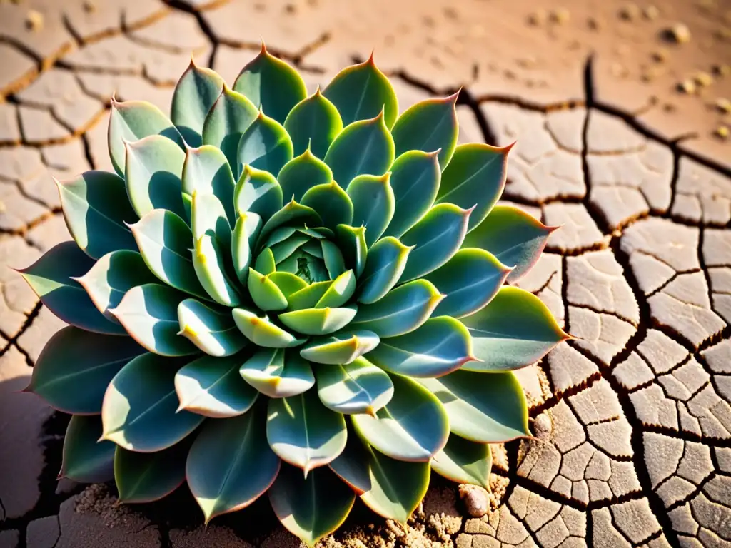
[[[526,395],[510,371],[486,376],[458,370],[418,382],[442,402],[453,434],[480,444],[530,435]]]

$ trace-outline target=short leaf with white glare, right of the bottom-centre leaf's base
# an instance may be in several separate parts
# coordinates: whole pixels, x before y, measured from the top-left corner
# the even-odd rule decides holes
[[[390,377],[363,357],[346,365],[316,368],[315,377],[320,401],[337,413],[374,415],[393,397]]]

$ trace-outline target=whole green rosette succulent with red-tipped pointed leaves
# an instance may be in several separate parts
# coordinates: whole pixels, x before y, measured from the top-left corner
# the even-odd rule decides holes
[[[170,118],[113,99],[116,172],[57,183],[75,241],[20,270],[69,324],[27,389],[72,414],[61,476],[187,481],[206,522],[268,492],[308,544],[356,495],[406,522],[431,470],[488,487],[530,435],[511,370],[568,335],[506,283],[551,229],[456,101],[399,115],[372,58],[308,96],[264,47],[232,89],[192,63]]]

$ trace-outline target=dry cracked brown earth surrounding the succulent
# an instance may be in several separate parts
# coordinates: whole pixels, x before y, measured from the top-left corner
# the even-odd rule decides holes
[[[185,489],[56,482],[67,417],[16,393],[62,326],[10,270],[69,239],[51,177],[111,170],[112,94],[168,110],[260,37],[309,91],[373,48],[401,110],[462,87],[461,141],[517,139],[505,200],[563,226],[520,286],[577,336],[518,372],[537,439],[487,516],[435,476],[321,548],[731,547],[731,1],[0,0],[0,548],[298,547],[265,500],[204,531]]]

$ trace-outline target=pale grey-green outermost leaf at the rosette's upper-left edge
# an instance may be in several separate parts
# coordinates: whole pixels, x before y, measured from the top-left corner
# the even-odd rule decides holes
[[[146,101],[118,102],[112,99],[109,115],[109,157],[119,175],[125,172],[124,143],[135,142],[148,135],[164,135],[185,148],[183,137],[170,118],[154,104]]]

